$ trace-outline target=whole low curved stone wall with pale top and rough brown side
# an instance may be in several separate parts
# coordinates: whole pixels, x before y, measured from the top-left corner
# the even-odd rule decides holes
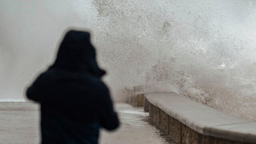
[[[146,94],[150,118],[180,144],[256,144],[256,122],[175,93]]]

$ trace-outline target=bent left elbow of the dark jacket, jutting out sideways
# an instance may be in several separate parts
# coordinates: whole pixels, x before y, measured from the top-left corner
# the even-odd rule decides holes
[[[42,75],[39,76],[36,81],[28,87],[26,95],[27,98],[30,100],[34,100],[36,102],[41,102],[42,101]]]

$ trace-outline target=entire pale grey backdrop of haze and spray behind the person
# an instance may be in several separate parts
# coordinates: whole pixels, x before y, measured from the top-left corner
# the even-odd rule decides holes
[[[2,101],[24,100],[78,26],[92,32],[115,101],[146,85],[256,120],[255,0],[1,0],[0,20]]]

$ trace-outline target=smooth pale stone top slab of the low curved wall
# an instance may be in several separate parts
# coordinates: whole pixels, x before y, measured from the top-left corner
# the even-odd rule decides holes
[[[205,136],[256,143],[256,122],[226,114],[176,93],[148,93],[148,102]]]

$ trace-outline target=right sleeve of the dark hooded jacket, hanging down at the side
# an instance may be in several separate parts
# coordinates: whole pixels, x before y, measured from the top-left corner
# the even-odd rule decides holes
[[[114,130],[119,126],[119,120],[116,112],[114,111],[108,88],[104,86],[104,89],[105,90],[103,91],[105,94],[102,95],[102,100],[100,100],[101,110],[99,122],[103,128],[106,128],[107,130]]]

